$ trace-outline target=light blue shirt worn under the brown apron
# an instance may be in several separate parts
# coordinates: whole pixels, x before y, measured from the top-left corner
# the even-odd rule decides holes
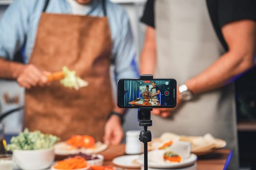
[[[0,57],[12,60],[16,51],[23,47],[24,62],[29,62],[44,5],[45,0],[14,0],[7,8],[0,18]],[[109,0],[106,0],[106,12],[113,41],[116,78],[138,77],[129,18],[122,7]],[[72,14],[72,8],[67,0],[50,0],[46,13]],[[87,15],[103,16],[101,0],[92,0]]]

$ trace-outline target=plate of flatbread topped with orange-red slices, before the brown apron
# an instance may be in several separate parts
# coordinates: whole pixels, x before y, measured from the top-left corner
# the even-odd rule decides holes
[[[95,141],[92,136],[80,136],[75,135],[71,136],[65,142],[59,142],[55,144],[54,151],[57,155],[70,155],[76,153],[99,153],[107,149],[107,144],[104,144],[100,141]]]

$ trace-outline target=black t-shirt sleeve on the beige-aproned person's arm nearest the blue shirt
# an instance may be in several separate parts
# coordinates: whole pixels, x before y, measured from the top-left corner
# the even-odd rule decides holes
[[[154,12],[155,0],[147,0],[144,13],[140,18],[140,21],[155,28],[155,12]]]

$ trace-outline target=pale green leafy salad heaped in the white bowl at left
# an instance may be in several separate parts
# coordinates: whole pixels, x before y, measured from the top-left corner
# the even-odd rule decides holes
[[[11,138],[11,143],[6,146],[6,149],[7,151],[48,149],[52,148],[58,140],[57,136],[25,129],[18,136]]]

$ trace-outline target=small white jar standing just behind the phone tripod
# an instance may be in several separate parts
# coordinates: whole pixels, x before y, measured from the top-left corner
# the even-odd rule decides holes
[[[126,144],[125,153],[126,154],[139,154],[142,153],[142,142],[139,141],[138,130],[131,130],[126,132]]]

